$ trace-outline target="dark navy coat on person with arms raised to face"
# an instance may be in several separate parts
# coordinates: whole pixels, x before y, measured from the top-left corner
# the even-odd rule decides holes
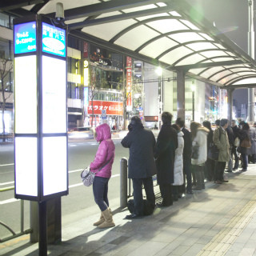
[[[134,126],[122,146],[129,148],[128,178],[148,178],[156,174],[154,162],[155,138],[151,130]]]

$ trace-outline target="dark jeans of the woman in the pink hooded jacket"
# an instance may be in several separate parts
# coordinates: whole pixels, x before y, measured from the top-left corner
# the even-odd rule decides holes
[[[107,198],[108,182],[110,178],[95,176],[93,183],[94,201],[98,204],[101,211],[104,211],[109,206]]]

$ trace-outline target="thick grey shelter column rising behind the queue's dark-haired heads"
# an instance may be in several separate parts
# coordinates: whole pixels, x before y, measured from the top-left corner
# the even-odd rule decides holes
[[[177,117],[185,121],[185,74],[186,71],[177,71]]]

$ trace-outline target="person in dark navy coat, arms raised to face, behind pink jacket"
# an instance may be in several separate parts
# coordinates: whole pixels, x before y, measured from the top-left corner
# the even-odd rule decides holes
[[[154,162],[155,138],[151,130],[143,127],[139,117],[131,118],[128,126],[129,133],[122,139],[122,146],[129,148],[128,178],[132,179],[134,186],[134,213],[126,218],[143,216],[144,203],[142,197],[142,184],[146,191],[147,205],[155,206],[154,187],[152,176],[156,174]]]

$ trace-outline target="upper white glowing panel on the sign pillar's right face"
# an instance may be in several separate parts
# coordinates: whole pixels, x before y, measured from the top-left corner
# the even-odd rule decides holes
[[[42,56],[42,132],[66,133],[66,61]]]

